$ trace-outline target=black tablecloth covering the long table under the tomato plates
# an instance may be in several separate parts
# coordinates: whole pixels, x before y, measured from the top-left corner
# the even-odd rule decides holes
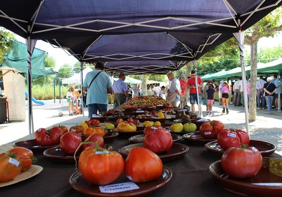
[[[189,150],[182,158],[164,163],[171,169],[172,178],[148,196],[239,196],[222,188],[208,172],[209,165],[220,157],[211,154],[203,145],[184,139],[179,143],[189,146]],[[131,144],[128,139],[119,137],[109,143],[114,150],[128,144]],[[271,156],[281,158],[275,153]],[[55,163],[42,153],[35,157],[38,162],[34,164],[42,166],[43,170],[32,178],[0,188],[0,196],[84,196],[69,184],[69,177],[75,172],[74,164]]]

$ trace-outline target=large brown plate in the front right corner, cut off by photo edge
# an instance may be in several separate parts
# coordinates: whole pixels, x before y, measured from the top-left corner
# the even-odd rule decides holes
[[[282,163],[282,159],[263,157],[259,172],[251,178],[229,177],[222,169],[220,160],[209,166],[209,172],[223,188],[233,193],[257,197],[281,196],[282,177],[269,170],[269,161],[273,160]],[[281,166],[279,167],[281,168]]]

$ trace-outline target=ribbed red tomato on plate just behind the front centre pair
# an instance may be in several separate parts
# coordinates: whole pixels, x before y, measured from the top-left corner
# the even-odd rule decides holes
[[[172,137],[168,130],[157,128],[145,135],[143,145],[154,153],[167,152],[172,146]]]

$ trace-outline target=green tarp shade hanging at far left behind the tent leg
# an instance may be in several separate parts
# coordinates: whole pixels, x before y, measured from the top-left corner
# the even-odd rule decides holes
[[[35,48],[31,56],[32,78],[38,78],[44,75],[53,75],[55,72],[52,68],[44,67],[45,52]],[[28,73],[27,45],[18,41],[13,41],[13,47],[10,53],[6,54],[1,67],[14,68],[20,73],[24,73],[27,78]]]

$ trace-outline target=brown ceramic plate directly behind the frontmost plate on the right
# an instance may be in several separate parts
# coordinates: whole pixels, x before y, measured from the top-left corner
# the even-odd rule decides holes
[[[259,140],[250,140],[249,146],[254,146],[258,149],[262,156],[270,156],[277,149],[274,144]],[[222,147],[220,147],[217,140],[205,144],[205,148],[215,156],[220,157],[225,151]]]

